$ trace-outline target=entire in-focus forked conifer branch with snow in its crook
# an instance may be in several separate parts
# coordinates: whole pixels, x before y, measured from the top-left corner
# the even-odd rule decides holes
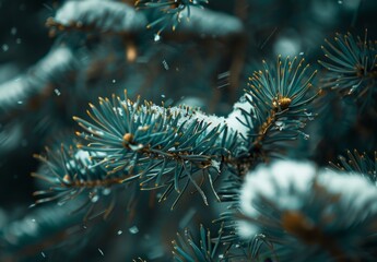
[[[48,195],[43,203],[68,201],[89,191],[89,203],[96,202],[104,189],[138,180],[141,190],[164,188],[160,201],[177,192],[172,209],[191,184],[208,204],[202,181],[213,182],[225,170],[240,174],[281,150],[281,143],[294,140],[311,112],[308,105],[317,94],[307,96],[313,73],[306,76],[303,60],[278,59],[276,69],[256,72],[251,88],[228,118],[208,117],[189,107],[156,106],[113,95],[99,98],[99,107],[90,104],[90,121],[73,117],[83,129],[76,134],[87,143],[61,146],[36,156],[49,166],[51,175],[33,176],[55,187],[37,191]],[[229,128],[234,120],[245,127]],[[258,133],[256,133],[258,132]],[[226,165],[224,165],[226,164]],[[199,180],[202,180],[199,182]]]

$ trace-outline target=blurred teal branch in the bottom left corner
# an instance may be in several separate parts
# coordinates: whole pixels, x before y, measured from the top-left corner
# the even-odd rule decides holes
[[[56,246],[75,243],[82,240],[80,222],[82,214],[74,211],[80,201],[67,205],[47,205],[31,209],[21,219],[12,221],[0,229],[0,260],[27,261],[43,258]],[[72,250],[71,250],[72,251]]]

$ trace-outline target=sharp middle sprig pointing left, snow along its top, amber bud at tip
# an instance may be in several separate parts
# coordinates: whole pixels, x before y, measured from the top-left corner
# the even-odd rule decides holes
[[[225,124],[198,120],[190,108],[132,103],[126,93],[125,100],[99,98],[99,109],[94,105],[91,109],[93,123],[74,117],[84,129],[78,135],[89,142],[79,147],[93,153],[92,159],[108,176],[132,174],[121,182],[138,179],[142,190],[165,188],[160,201],[174,190],[177,202],[191,183],[208,204],[197,180],[207,178],[213,189],[213,177],[220,175],[222,158],[228,154],[226,146],[234,144],[232,139],[219,140],[227,133]]]

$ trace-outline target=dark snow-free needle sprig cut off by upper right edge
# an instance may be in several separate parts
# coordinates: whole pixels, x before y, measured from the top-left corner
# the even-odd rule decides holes
[[[329,73],[325,75],[325,88],[338,91],[342,95],[353,95],[363,105],[374,102],[377,79],[377,41],[369,40],[367,29],[364,39],[347,33],[337,34],[334,44],[326,39],[322,46],[327,58],[318,61]]]

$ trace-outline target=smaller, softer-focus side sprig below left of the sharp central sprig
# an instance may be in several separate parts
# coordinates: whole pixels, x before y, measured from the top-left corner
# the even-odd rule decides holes
[[[131,175],[127,172],[108,175],[101,165],[95,165],[92,160],[94,156],[69,144],[62,144],[58,150],[46,148],[46,156],[35,155],[44,166],[32,176],[44,180],[48,187],[34,192],[34,195],[38,196],[36,204],[58,201],[59,205],[63,205],[76,198],[83,198],[84,201],[78,211],[86,209],[84,221],[90,218],[99,203],[105,206],[99,213],[106,218],[115,207],[117,198],[115,187]]]

